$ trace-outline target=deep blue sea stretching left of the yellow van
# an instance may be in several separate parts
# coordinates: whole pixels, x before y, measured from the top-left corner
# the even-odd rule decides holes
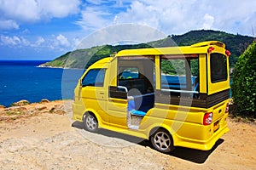
[[[73,99],[83,70],[38,67],[47,60],[0,60],[0,105]]]

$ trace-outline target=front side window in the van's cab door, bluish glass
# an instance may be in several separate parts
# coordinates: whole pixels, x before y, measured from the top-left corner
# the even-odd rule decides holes
[[[82,87],[94,86],[103,87],[106,69],[92,69],[82,80]]]

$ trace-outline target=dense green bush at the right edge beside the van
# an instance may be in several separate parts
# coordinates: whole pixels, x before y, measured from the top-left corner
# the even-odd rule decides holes
[[[256,42],[238,58],[231,86],[237,113],[256,117]]]

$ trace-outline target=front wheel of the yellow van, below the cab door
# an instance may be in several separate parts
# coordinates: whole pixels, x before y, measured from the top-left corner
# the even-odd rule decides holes
[[[84,116],[84,127],[85,130],[91,133],[96,133],[98,131],[98,121],[96,116],[92,113],[86,113]]]

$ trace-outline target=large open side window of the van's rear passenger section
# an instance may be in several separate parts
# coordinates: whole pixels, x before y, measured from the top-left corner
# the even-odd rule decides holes
[[[161,89],[188,94],[199,93],[198,54],[162,56],[160,66]]]

